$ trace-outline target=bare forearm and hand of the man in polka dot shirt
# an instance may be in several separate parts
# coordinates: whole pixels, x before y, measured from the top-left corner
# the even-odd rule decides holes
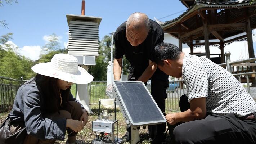
[[[206,116],[206,98],[194,98],[190,101],[190,109],[185,112],[170,113],[166,115],[166,120],[170,125],[177,122],[188,122],[200,120]]]

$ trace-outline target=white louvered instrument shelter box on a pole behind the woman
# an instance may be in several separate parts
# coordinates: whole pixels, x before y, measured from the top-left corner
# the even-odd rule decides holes
[[[99,55],[99,24],[102,18],[72,14],[66,17],[69,26],[68,54],[79,57],[81,65],[95,65],[95,56]],[[84,63],[88,56],[91,60]]]

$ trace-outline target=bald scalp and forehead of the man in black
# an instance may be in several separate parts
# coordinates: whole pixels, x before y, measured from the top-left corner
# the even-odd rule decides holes
[[[150,29],[150,21],[146,14],[135,12],[126,21],[126,29],[138,30],[140,28]]]

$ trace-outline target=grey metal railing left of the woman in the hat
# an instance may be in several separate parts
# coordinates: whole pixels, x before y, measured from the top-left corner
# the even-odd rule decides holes
[[[22,77],[21,80],[16,80],[0,76],[0,112],[12,108],[17,90],[22,85],[22,82]]]

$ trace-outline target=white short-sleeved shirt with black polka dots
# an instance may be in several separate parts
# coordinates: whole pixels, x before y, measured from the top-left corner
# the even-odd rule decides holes
[[[211,60],[185,54],[182,77],[187,85],[187,97],[206,97],[207,112],[241,117],[256,112],[256,102],[231,73]]]

